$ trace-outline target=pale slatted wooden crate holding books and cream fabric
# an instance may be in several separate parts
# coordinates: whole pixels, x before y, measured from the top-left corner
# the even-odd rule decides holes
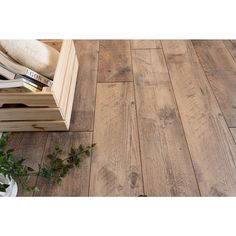
[[[74,42],[45,42],[60,48],[53,86],[37,93],[0,93],[0,132],[69,129],[79,67]]]

